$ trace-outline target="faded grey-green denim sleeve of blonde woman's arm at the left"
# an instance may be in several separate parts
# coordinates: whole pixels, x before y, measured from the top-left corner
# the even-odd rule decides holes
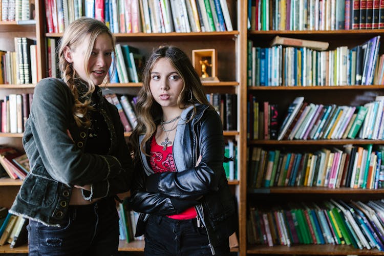
[[[33,145],[29,145],[29,138],[23,138],[27,155],[29,146],[36,146],[49,175],[67,185],[92,184],[116,176],[121,169],[116,157],[83,153],[68,136],[71,97],[68,87],[57,79],[39,82],[29,117]]]

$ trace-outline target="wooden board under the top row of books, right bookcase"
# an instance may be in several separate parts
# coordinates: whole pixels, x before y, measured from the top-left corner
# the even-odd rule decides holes
[[[268,31],[248,31],[248,35],[365,35],[365,34],[383,34],[384,29],[366,29],[366,30],[268,30]]]

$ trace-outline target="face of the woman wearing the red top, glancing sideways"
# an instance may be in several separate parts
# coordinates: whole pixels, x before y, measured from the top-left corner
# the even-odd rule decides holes
[[[167,58],[160,58],[151,71],[150,90],[162,108],[179,107],[177,99],[184,87],[180,74]]]

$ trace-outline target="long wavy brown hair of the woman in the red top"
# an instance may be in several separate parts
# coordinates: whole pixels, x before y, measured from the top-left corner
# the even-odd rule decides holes
[[[156,132],[158,120],[163,116],[161,106],[154,100],[150,89],[152,69],[161,58],[166,58],[172,63],[172,66],[184,82],[183,89],[177,99],[180,109],[185,109],[197,103],[210,105],[199,75],[195,71],[188,56],[175,46],[161,46],[155,49],[145,64],[143,70],[143,87],[139,91],[136,104],[137,125],[130,137],[130,143],[135,154],[138,154],[139,150],[145,153],[145,143],[150,140]],[[210,107],[213,108],[211,105]],[[196,113],[195,107],[194,113]],[[191,118],[193,118],[193,116]],[[139,144],[139,136],[141,134],[144,134],[144,139],[142,143]]]

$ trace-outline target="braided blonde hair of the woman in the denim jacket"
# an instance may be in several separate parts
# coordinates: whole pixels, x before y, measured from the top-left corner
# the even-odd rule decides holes
[[[78,126],[89,127],[91,121],[88,115],[88,112],[92,110],[91,100],[84,100],[81,102],[79,100],[79,93],[75,86],[76,71],[74,70],[72,63],[68,62],[65,58],[65,49],[69,47],[74,49],[79,46],[84,39],[89,41],[88,48],[84,54],[84,70],[88,80],[88,91],[81,96],[81,98],[87,98],[88,95],[91,95],[95,91],[95,84],[92,82],[89,71],[88,71],[88,61],[92,53],[93,45],[97,36],[100,34],[108,34],[111,37],[113,53],[115,52],[115,37],[110,32],[109,28],[106,27],[100,20],[93,18],[79,18],[72,22],[68,28],[66,28],[63,36],[60,40],[59,47],[59,68],[61,72],[61,78],[67,83],[69,89],[72,92],[75,103],[73,106],[73,117],[75,118],[76,124]],[[103,84],[109,82],[109,76],[105,76]]]

